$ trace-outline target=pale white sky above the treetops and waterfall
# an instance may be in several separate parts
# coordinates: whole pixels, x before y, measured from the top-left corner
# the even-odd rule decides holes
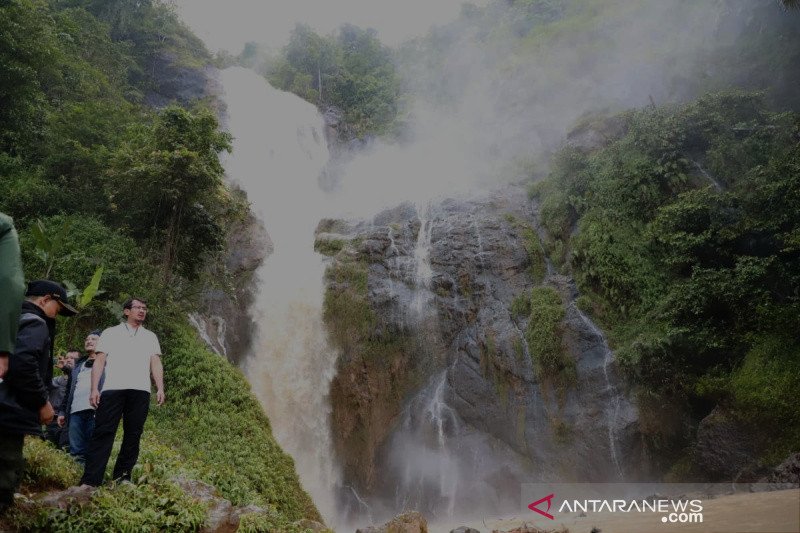
[[[327,34],[349,22],[374,28],[385,44],[455,19],[464,0],[174,0],[183,20],[212,50],[238,54],[244,43],[286,44],[296,22]],[[488,0],[473,0],[485,4]]]

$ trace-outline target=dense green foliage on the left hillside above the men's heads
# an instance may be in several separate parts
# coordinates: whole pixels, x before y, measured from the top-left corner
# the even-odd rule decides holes
[[[153,111],[141,96],[155,58],[200,62],[202,46],[158,2],[0,9],[0,210],[20,230],[27,277],[83,287],[102,264],[83,326],[113,320],[103,301],[191,294],[236,203],[217,156],[229,138],[208,110]],[[57,257],[35,253],[36,227],[58,236]]]

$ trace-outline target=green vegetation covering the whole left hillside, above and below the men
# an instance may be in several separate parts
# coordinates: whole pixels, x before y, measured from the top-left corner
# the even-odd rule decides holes
[[[117,323],[119,302],[140,296],[164,350],[168,397],[151,407],[136,485],[65,510],[20,506],[16,528],[196,531],[206,510],[180,477],[267,508],[276,527],[319,520],[244,377],[186,318],[203,290],[225,288],[229,275],[216,266],[225,228],[246,206],[222,183],[218,154],[230,138],[214,114],[202,102],[159,111],[143,102],[172,98],[165,69],[209,59],[156,0],[0,2],[0,211],[19,229],[27,279],[86,287],[81,314],[59,319],[56,350]],[[77,483],[63,452],[29,440],[25,453],[26,490]]]

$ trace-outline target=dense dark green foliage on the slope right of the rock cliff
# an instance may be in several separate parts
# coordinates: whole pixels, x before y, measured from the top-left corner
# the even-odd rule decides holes
[[[565,148],[535,187],[548,244],[636,382],[796,449],[800,117],[734,92],[608,120],[617,138]]]

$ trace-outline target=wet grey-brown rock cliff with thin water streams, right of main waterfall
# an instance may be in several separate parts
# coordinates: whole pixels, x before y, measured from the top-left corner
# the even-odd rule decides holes
[[[544,264],[535,222],[524,191],[509,187],[318,228],[317,247],[332,256],[326,322],[341,351],[334,435],[359,490],[436,514],[518,498],[525,480],[641,470],[637,411],[613,353],[572,280]],[[529,346],[535,287],[559,302],[563,376],[544,372]]]

